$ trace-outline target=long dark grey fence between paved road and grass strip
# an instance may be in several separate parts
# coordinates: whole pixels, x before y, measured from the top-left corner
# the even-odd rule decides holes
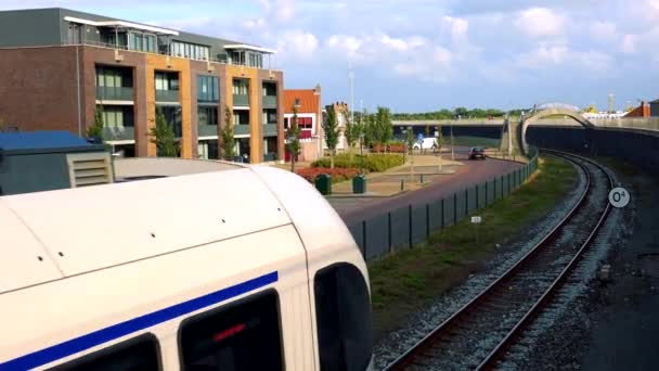
[[[538,169],[538,150],[517,170],[477,183],[443,199],[408,205],[348,226],[364,259],[413,248],[430,233],[453,226],[492,202],[507,196]]]

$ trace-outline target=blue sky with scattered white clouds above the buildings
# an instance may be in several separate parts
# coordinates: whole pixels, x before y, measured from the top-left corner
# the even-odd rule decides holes
[[[2,0],[63,7],[276,50],[284,88],[426,112],[659,98],[659,0]],[[654,88],[654,89],[652,89]]]

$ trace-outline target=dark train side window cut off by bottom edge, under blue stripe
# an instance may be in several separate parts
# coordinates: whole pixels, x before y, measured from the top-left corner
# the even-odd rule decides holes
[[[151,371],[160,369],[159,358],[156,337],[152,334],[145,334],[74,359],[70,362],[55,366],[51,370]]]

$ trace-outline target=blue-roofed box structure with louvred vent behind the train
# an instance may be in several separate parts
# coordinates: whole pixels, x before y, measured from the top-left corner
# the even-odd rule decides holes
[[[0,132],[0,195],[112,183],[109,150],[68,131]]]

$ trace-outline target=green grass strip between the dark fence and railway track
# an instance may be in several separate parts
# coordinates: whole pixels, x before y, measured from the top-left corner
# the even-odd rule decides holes
[[[524,236],[529,225],[566,196],[576,179],[574,168],[565,159],[542,157],[539,171],[527,184],[479,212],[478,242],[475,227],[465,219],[412,250],[371,263],[376,340],[477,271],[496,243]]]

